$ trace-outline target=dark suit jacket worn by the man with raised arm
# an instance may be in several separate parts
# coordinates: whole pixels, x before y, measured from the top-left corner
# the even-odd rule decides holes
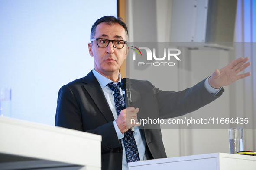
[[[138,117],[171,118],[197,110],[222,94],[211,95],[204,80],[184,91],[161,91],[148,81],[131,80],[132,101]],[[122,169],[122,145],[113,126],[114,117],[92,71],[84,78],[64,85],[58,93],[55,126],[102,136],[102,170]],[[153,129],[152,129],[153,128]],[[165,158],[160,126],[141,127],[149,159]]]

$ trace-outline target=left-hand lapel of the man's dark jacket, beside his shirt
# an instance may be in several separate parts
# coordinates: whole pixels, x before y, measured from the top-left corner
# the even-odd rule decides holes
[[[100,112],[104,115],[106,120],[108,122],[115,120],[105,98],[105,95],[102,91],[102,88],[100,87],[100,84],[95,78],[92,71],[84,77],[83,82],[86,83],[84,85],[84,88],[86,89],[88,94],[90,94],[92,100],[97,105],[97,107],[99,108]]]

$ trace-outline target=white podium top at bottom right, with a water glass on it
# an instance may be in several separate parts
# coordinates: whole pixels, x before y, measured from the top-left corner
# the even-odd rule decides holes
[[[129,170],[256,170],[256,156],[214,153],[128,163]]]

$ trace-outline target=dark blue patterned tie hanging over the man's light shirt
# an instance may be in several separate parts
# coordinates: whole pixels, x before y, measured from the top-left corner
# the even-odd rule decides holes
[[[121,112],[121,110],[125,109],[125,103],[122,95],[120,94],[120,82],[114,84],[110,82],[107,85],[114,92],[114,100],[115,106],[117,110],[117,115]],[[139,152],[136,145],[136,141],[134,139],[133,133],[130,131],[124,132],[123,144],[126,151],[126,159],[127,162],[139,161]]]

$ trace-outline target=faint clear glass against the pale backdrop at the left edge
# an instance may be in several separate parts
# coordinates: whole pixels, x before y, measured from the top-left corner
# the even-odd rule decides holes
[[[11,117],[11,88],[0,88],[0,116]]]

